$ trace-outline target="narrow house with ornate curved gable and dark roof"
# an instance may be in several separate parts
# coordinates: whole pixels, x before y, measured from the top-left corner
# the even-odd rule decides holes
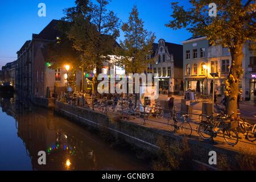
[[[159,89],[172,94],[180,92],[183,81],[183,46],[160,39],[153,44],[152,64],[149,69],[159,75]]]

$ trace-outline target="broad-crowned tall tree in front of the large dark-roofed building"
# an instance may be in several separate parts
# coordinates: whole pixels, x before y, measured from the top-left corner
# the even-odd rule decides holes
[[[119,19],[108,11],[109,0],[77,0],[76,7],[65,10],[66,21],[72,23],[68,38],[73,47],[81,52],[81,65],[86,71],[96,69],[93,78],[93,91],[97,92],[97,77],[104,61],[110,60],[115,39],[119,36]]]

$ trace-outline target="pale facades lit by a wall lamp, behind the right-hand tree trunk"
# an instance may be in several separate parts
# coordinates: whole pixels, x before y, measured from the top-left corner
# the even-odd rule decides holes
[[[200,81],[200,92],[212,94],[210,91],[213,77],[210,73],[218,73],[214,85],[218,94],[224,95],[225,80],[232,64],[228,48],[210,46],[207,37],[190,38],[184,41],[183,45],[185,88],[196,90],[197,81]],[[248,44],[243,46],[242,68],[244,75],[240,87],[243,90],[243,100],[254,100],[256,56],[253,51],[250,51]]]

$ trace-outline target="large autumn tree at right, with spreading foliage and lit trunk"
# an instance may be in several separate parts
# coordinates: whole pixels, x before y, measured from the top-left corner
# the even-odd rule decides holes
[[[191,0],[192,5],[187,11],[176,2],[167,27],[177,30],[187,28],[194,36],[207,36],[211,45],[228,47],[232,65],[226,80],[226,96],[228,96],[228,114],[237,113],[237,96],[240,92],[239,83],[243,75],[243,46],[249,44],[251,49],[256,45],[256,6],[255,1],[247,0],[216,0],[217,16],[209,16],[210,0]]]

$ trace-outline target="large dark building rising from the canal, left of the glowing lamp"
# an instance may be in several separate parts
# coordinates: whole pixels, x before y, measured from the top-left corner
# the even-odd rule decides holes
[[[22,102],[46,96],[45,50],[47,44],[59,35],[57,23],[59,20],[52,20],[39,34],[32,34],[32,40],[27,40],[17,52],[16,89]]]

